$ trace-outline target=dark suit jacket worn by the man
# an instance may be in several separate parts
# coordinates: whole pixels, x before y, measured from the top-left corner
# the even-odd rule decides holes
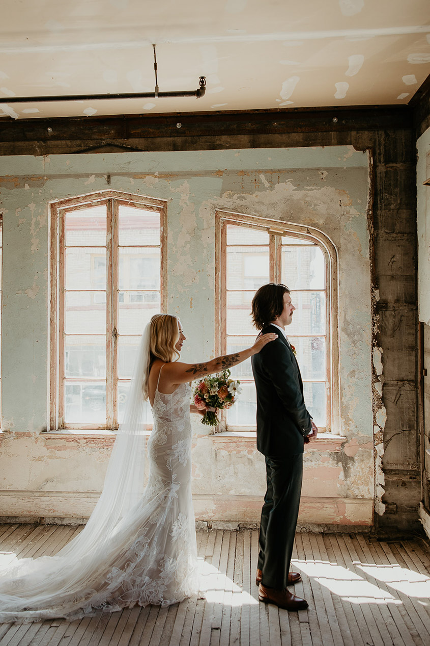
[[[311,432],[311,415],[303,399],[303,382],[293,350],[278,328],[262,334],[279,336],[251,357],[257,388],[257,449],[266,457],[284,459],[303,453]]]

